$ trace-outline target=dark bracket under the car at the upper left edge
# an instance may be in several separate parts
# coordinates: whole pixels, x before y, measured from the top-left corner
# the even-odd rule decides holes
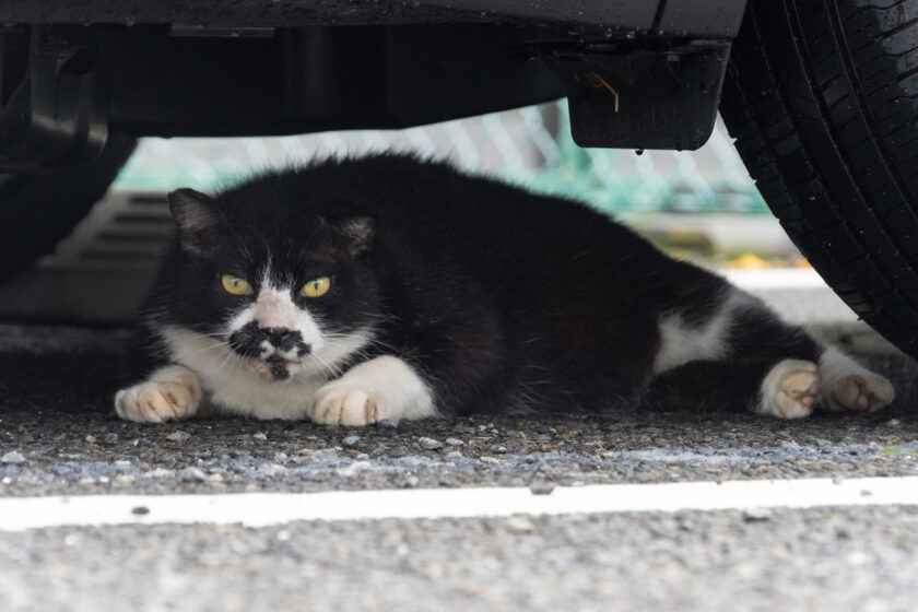
[[[0,170],[92,162],[107,137],[104,70],[90,28],[0,34]],[[25,69],[10,66],[25,61]]]

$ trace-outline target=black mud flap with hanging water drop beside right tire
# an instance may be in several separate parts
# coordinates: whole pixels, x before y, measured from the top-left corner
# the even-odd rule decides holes
[[[730,43],[615,47],[544,59],[564,80],[580,146],[694,150],[710,137]]]

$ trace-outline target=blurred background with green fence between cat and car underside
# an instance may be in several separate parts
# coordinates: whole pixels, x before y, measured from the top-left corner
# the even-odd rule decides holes
[[[398,131],[143,139],[71,236],[0,287],[0,316],[130,322],[173,232],[169,190],[209,192],[268,167],[381,151],[448,160],[471,173],[586,201],[670,254],[705,266],[805,267],[722,122],[694,152],[581,149],[570,139],[562,99]]]

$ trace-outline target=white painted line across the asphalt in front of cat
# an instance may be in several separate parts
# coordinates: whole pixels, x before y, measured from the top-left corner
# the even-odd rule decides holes
[[[90,495],[0,499],[0,531],[163,523],[283,525],[365,520],[626,511],[918,505],[918,476],[604,484],[528,489],[334,491],[225,495]]]

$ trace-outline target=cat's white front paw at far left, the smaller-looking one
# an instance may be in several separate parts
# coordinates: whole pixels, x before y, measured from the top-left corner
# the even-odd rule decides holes
[[[195,414],[202,395],[193,372],[167,366],[154,372],[149,380],[118,391],[115,412],[126,421],[164,423]]]

